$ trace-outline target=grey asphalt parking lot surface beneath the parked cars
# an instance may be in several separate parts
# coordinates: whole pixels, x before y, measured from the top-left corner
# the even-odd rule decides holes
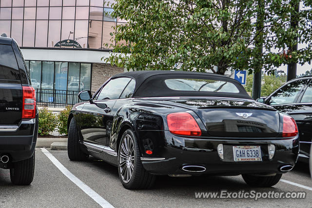
[[[52,157],[56,159],[54,163],[48,158],[48,153],[52,153]],[[58,161],[60,166],[65,167],[63,172],[68,177],[55,165]],[[73,177],[77,177],[74,182],[78,185],[69,179]],[[97,201],[101,199],[116,208],[312,207],[312,180],[307,164],[299,163],[291,172],[284,174],[282,179],[274,187],[254,188],[247,186],[241,176],[159,176],[151,190],[127,190],[122,187],[115,166],[93,157],[86,162],[72,162],[67,157],[67,151],[36,148],[35,178],[31,186],[12,185],[9,170],[0,169],[0,207],[100,207]],[[195,198],[195,192],[218,192],[225,189],[228,192],[304,191],[306,197],[258,200]]]

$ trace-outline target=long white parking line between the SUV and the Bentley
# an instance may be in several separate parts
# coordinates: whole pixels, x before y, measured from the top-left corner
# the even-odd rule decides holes
[[[64,167],[58,159],[56,159],[48,150],[40,148],[41,151],[51,160],[51,162],[59,168],[59,170],[69,178],[74,184],[76,184],[81,190],[83,190],[88,196],[96,201],[102,208],[114,208],[110,203],[103,199],[97,192],[88,187],[85,183],[80,181],[75,175],[73,175],[66,167]]]

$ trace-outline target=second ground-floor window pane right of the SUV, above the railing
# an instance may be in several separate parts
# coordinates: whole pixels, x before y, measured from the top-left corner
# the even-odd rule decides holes
[[[41,89],[53,89],[54,83],[54,62],[42,62],[42,83]]]

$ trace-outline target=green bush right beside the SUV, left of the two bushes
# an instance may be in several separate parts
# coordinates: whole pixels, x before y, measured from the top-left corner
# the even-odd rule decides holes
[[[49,111],[48,108],[39,109],[39,135],[48,135],[51,131],[54,131],[57,123],[57,116],[52,111]]]

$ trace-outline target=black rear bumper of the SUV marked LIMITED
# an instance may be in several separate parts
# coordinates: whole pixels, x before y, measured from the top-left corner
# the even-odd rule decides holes
[[[31,158],[38,135],[38,118],[23,120],[15,132],[0,133],[0,156],[8,155],[9,163]]]

